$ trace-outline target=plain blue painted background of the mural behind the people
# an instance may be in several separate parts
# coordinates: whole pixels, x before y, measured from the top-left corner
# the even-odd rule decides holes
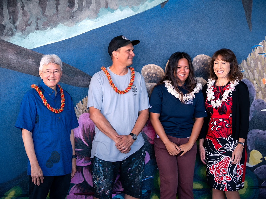
[[[168,58],[176,51],[185,51],[194,58],[199,54],[211,57],[214,51],[229,48],[241,63],[252,52],[251,46],[265,40],[264,1],[253,1],[251,21],[252,31],[248,28],[241,1],[170,0],[163,8],[158,5],[76,37],[32,50],[43,54],[57,54],[63,62],[93,75],[101,66],[110,66],[108,44],[114,36],[123,34],[130,40],[140,40],[140,44],[135,46],[133,63],[138,72],[147,64],[156,64],[164,69]],[[265,64],[262,67],[265,69]],[[14,124],[23,94],[30,89],[32,83],[38,84],[39,81],[39,77],[0,67],[0,197],[6,196],[6,192],[15,185],[21,188],[18,193],[22,196],[27,193],[28,182],[24,176],[27,167],[26,153],[21,132]],[[61,85],[71,94],[74,104],[88,94],[88,88],[63,83]],[[262,121],[265,122],[265,118]],[[265,165],[265,161],[261,165]],[[149,166],[155,167],[154,164]],[[260,182],[265,180],[266,178],[259,179]],[[149,183],[144,182],[144,185],[149,188]],[[260,185],[261,183],[257,183],[254,186],[260,188]],[[156,189],[154,183],[150,185],[150,189]],[[258,190],[253,194],[254,198],[259,197]]]

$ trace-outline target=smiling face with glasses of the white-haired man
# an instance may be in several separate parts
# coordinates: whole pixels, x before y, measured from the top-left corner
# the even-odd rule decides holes
[[[52,72],[52,73],[51,74],[45,73],[48,71]],[[43,69],[41,71],[39,71],[39,75],[40,75],[41,79],[43,80],[44,84],[53,90],[56,89],[56,84],[59,82],[59,80],[62,76],[62,72],[59,73],[59,75],[55,75],[53,73],[55,71],[61,72],[61,69],[60,69],[60,66],[58,64],[54,64],[54,63],[49,63],[47,65],[43,65]]]

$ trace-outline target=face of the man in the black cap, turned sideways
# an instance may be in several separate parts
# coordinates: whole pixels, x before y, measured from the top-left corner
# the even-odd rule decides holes
[[[133,63],[133,57],[135,54],[133,53],[134,47],[130,43],[126,46],[120,47],[119,51],[116,51],[118,61],[121,65],[127,67]]]

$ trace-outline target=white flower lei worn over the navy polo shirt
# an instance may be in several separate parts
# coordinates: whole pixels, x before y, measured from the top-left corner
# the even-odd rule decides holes
[[[165,83],[165,87],[167,88],[167,91],[171,93],[174,97],[177,99],[180,99],[180,94],[174,89],[173,85],[171,84],[170,80],[163,81]],[[184,101],[189,101],[195,97],[194,93],[198,93],[202,89],[202,86],[200,83],[196,84],[195,88],[192,90],[191,93],[183,95]]]

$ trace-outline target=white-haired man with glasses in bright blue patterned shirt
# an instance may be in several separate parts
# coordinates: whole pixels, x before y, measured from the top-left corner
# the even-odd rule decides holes
[[[28,156],[29,198],[45,199],[50,190],[50,199],[64,199],[76,172],[78,121],[72,98],[57,84],[62,69],[57,55],[41,59],[42,81],[24,95],[16,120]]]

